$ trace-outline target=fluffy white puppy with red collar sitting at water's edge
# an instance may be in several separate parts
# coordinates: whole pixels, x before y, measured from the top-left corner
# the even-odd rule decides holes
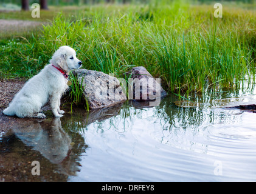
[[[72,69],[78,69],[81,61],[76,58],[74,49],[62,46],[54,53],[50,63],[38,75],[26,82],[10,102],[9,107],[3,111],[5,115],[45,118],[46,115],[40,113],[41,107],[50,102],[54,116],[63,116],[64,111],[60,110],[60,98],[68,88],[67,74]]]

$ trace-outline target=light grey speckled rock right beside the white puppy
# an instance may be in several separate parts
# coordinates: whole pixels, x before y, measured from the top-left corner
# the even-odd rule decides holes
[[[87,69],[74,70],[79,82],[82,81],[83,94],[89,100],[89,109],[109,107],[126,100],[120,82],[114,76]]]

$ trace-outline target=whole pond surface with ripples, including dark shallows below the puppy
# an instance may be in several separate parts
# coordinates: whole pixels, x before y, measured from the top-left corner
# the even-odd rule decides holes
[[[189,98],[18,119],[0,138],[0,181],[256,181],[256,115],[225,108],[253,92]]]

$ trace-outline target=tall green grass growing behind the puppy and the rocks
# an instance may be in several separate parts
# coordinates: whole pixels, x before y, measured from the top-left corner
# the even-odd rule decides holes
[[[224,5],[223,18],[213,12],[213,5],[154,1],[58,14],[27,39],[0,41],[0,75],[29,78],[58,47],[70,45],[85,69],[123,77],[143,65],[168,92],[236,89],[255,76],[256,13]]]

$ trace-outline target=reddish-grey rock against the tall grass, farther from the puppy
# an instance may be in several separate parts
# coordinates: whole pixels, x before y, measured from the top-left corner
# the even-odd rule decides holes
[[[145,67],[134,67],[129,73],[133,81],[129,81],[129,99],[148,101],[167,96],[160,79],[154,78]]]

